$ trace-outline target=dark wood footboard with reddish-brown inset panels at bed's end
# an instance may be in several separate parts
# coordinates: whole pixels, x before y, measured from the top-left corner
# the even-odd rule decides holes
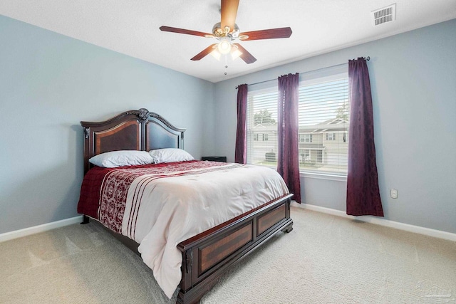
[[[279,231],[291,231],[291,196],[282,196],[179,243],[182,280],[177,303],[198,303],[230,266]]]

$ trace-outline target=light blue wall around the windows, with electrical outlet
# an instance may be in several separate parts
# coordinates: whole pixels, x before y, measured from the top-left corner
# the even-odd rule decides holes
[[[370,56],[385,219],[456,233],[455,33],[447,21],[217,83],[215,152],[234,160],[235,86]],[[346,182],[304,178],[301,189],[304,203],[346,210]]]

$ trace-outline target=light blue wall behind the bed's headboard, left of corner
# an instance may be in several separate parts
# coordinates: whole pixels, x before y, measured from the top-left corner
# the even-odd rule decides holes
[[[0,16],[0,234],[76,216],[81,120],[147,108],[212,154],[214,84]]]

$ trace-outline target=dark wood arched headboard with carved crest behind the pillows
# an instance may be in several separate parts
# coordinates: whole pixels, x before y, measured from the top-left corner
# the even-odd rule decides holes
[[[147,109],[123,112],[103,122],[84,122],[84,174],[97,154],[118,150],[184,149],[185,129]]]

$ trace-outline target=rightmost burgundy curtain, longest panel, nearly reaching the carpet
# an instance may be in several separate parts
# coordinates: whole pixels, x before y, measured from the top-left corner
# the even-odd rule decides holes
[[[366,59],[348,61],[348,77],[351,112],[347,214],[383,216],[373,141],[371,82]]]

